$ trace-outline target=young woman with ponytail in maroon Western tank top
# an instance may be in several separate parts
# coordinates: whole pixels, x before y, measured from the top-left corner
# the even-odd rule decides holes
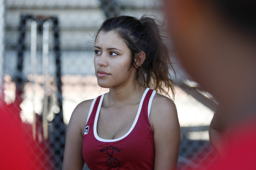
[[[74,109],[63,169],[82,169],[84,161],[91,170],[176,169],[180,145],[176,107],[156,93],[174,94],[169,72],[173,69],[155,20],[107,19],[94,49],[98,85],[109,92]]]

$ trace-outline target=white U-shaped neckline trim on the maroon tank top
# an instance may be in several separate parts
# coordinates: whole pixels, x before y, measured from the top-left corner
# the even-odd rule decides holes
[[[99,117],[99,114],[100,114],[100,108],[102,106],[102,102],[103,102],[103,98],[105,96],[105,94],[102,94],[101,98],[100,98],[100,102],[99,102],[99,105],[98,105],[98,108],[97,108],[97,112],[96,112],[96,115],[95,115],[95,119],[94,119],[94,127],[93,127],[93,133],[94,133],[94,137],[98,140],[98,141],[101,141],[101,142],[116,142],[116,141],[120,141],[121,139],[124,139],[126,136],[128,136],[131,131],[134,129],[137,121],[138,121],[138,118],[140,116],[140,111],[141,111],[141,108],[142,108],[142,104],[143,104],[143,101],[144,101],[144,98],[148,92],[150,88],[146,88],[146,90],[144,91],[144,94],[142,95],[142,98],[140,100],[140,105],[139,105],[139,108],[138,108],[138,111],[137,111],[137,114],[136,114],[136,117],[135,117],[135,120],[132,124],[132,127],[130,128],[130,130],[122,137],[120,138],[117,138],[117,139],[102,139],[98,136],[98,133],[97,133],[97,123],[98,123],[98,117]],[[154,93],[155,94],[155,93]],[[151,101],[152,102],[152,101]],[[151,104],[150,104],[151,106]],[[93,107],[93,106],[92,106]],[[149,114],[148,114],[149,116]]]

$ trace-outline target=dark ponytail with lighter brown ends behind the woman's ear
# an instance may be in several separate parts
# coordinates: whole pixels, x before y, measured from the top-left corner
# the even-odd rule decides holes
[[[139,21],[147,30],[142,39],[145,42],[143,49],[146,59],[142,63],[141,70],[137,71],[138,77],[142,80],[140,83],[161,94],[168,94],[171,90],[172,96],[174,96],[174,82],[171,79],[170,71],[174,72],[175,76],[176,73],[170,61],[168,48],[163,42],[164,37],[160,35],[160,25],[154,19],[145,16]]]

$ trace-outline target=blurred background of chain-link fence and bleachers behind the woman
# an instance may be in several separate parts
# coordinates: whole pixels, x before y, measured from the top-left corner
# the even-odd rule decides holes
[[[0,102],[32,134],[26,143],[36,143],[31,149],[39,162],[32,169],[62,168],[72,111],[108,92],[94,75],[94,35],[106,18],[120,15],[153,15],[164,22],[161,0],[0,0]],[[161,31],[168,36],[165,27]],[[216,158],[208,127],[217,102],[180,66],[171,40],[166,43],[177,73],[177,169],[199,169],[211,163],[207,156]]]

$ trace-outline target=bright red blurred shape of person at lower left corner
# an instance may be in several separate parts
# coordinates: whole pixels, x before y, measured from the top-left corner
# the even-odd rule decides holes
[[[0,106],[0,169],[1,170],[27,170],[32,166],[28,156],[32,154],[28,149],[30,138],[27,129],[16,116],[16,111],[20,113],[20,107],[6,105],[1,101]],[[15,110],[16,109],[16,110]],[[14,112],[12,112],[14,111]]]

